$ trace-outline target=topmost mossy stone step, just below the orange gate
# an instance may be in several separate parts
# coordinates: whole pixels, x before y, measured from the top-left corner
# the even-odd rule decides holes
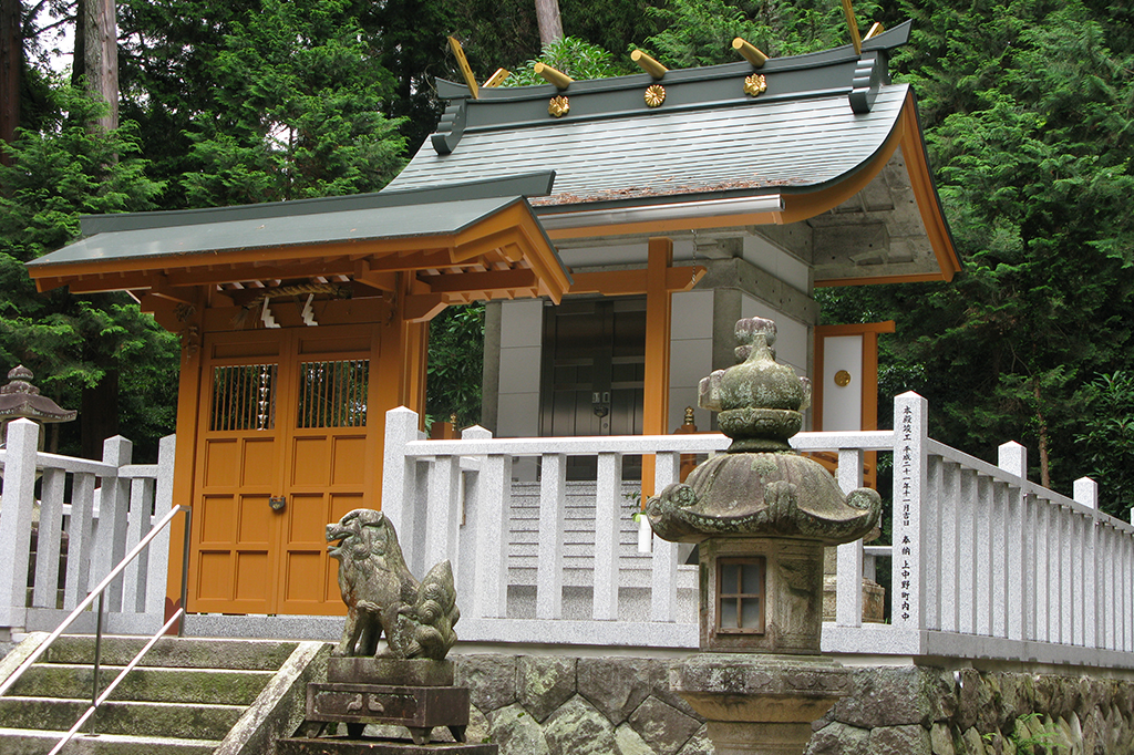
[[[142,637],[103,636],[101,661],[126,665],[146,641]],[[252,639],[194,639],[163,637],[146,653],[143,667],[276,670],[297,643]],[[46,653],[48,663],[94,663],[94,638],[64,636]]]

